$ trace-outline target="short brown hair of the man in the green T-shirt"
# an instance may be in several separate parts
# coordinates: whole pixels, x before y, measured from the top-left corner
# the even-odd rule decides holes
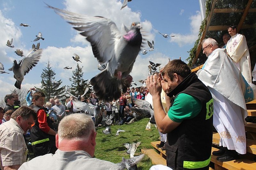
[[[176,59],[168,62],[168,64],[166,64],[166,66],[163,67],[161,73],[162,75],[167,74],[167,76],[170,77],[171,81],[173,81],[174,73],[180,75],[183,78],[186,78],[191,73],[191,70],[185,62]]]

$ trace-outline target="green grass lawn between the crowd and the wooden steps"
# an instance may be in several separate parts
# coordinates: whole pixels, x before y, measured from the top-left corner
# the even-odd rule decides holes
[[[159,140],[158,130],[151,124],[151,130],[145,130],[149,118],[144,118],[138,122],[124,125],[112,125],[111,134],[105,135],[102,130],[105,127],[97,127],[95,157],[102,160],[107,160],[113,163],[122,161],[122,157],[130,158],[126,153],[127,149],[123,143],[139,142],[140,146],[137,148],[134,156],[141,154],[141,149],[153,148],[151,142]],[[118,128],[126,132],[120,132],[119,136],[115,136]],[[151,159],[145,155],[143,160],[137,165],[140,170],[148,170],[152,165]]]

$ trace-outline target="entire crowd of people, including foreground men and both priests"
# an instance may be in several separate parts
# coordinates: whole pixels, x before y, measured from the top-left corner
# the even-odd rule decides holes
[[[197,74],[191,73],[185,62],[171,60],[160,73],[148,76],[146,87],[128,88],[118,100],[104,103],[100,116],[112,117],[113,124],[132,123],[136,117],[130,109],[136,107],[133,101],[150,98],[159,134],[167,134],[158,146],[165,145],[168,167],[209,169],[211,154],[223,162],[238,159],[246,153],[245,103],[252,101],[256,93],[245,37],[237,33],[235,26],[230,26],[228,33],[223,35],[222,48],[212,38],[203,40],[202,50],[208,59]],[[120,169],[93,158],[95,126],[101,122],[79,114],[74,96],[65,103],[57,96],[45,103],[45,95],[31,88],[26,100],[30,107],[20,106],[17,94],[8,94],[4,97],[6,106],[0,107],[4,169]],[[94,93],[77,100],[94,106],[101,103]],[[211,153],[213,127],[221,136],[221,148]],[[24,163],[27,145],[23,135],[28,130],[36,158]],[[41,163],[45,166],[38,167]]]

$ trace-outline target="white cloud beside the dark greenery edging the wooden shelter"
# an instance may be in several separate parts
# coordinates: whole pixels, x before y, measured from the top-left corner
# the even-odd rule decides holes
[[[190,21],[190,33],[183,35],[177,33],[171,33],[175,37],[170,38],[170,42],[175,42],[179,44],[180,47],[187,44],[194,44],[198,38],[198,32],[201,25],[201,14],[199,11],[196,12],[196,15],[189,17]]]

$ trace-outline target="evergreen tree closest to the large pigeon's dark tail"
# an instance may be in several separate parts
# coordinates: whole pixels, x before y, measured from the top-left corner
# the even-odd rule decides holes
[[[83,67],[80,67],[77,63],[76,69],[72,71],[73,76],[72,78],[69,78],[69,81],[71,81],[71,86],[68,86],[68,89],[71,94],[74,96],[83,95],[86,87],[86,81],[83,79]]]

